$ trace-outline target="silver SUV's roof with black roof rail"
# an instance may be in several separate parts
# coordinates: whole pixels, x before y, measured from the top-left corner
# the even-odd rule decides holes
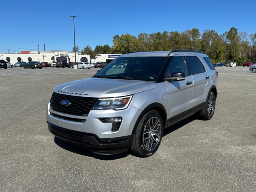
[[[130,53],[126,53],[126,54],[123,54],[121,55],[120,57],[131,57],[131,56],[134,56],[134,57],[148,57],[148,56],[151,56],[151,57],[167,57],[167,56],[170,56],[172,53],[173,54],[176,54],[176,53],[200,53],[200,54],[205,54],[203,51],[199,51],[199,50],[173,50],[173,51],[152,51],[152,52],[130,52]]]

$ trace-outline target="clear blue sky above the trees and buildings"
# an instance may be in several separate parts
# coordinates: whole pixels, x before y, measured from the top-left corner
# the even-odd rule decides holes
[[[0,52],[82,50],[118,34],[256,32],[256,0],[0,0]]]

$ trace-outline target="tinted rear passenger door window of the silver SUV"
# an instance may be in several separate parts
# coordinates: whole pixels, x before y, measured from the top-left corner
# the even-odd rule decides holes
[[[188,71],[190,75],[204,72],[204,67],[198,57],[186,56],[186,59],[188,61]]]

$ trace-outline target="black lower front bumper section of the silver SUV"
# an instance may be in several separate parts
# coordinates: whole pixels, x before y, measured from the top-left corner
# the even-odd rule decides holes
[[[92,150],[96,154],[112,155],[126,152],[132,144],[133,136],[100,139],[94,134],[68,130],[48,122],[48,130],[56,137],[70,144]]]

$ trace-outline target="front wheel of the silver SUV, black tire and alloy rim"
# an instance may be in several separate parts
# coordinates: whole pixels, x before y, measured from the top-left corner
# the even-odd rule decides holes
[[[156,110],[147,112],[140,120],[130,150],[142,157],[153,155],[163,136],[162,117]]]

